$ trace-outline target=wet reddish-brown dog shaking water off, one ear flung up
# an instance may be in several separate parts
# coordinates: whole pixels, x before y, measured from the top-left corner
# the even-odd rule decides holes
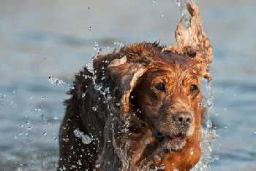
[[[190,170],[200,159],[200,80],[211,45],[198,8],[176,47],[140,43],[75,76],[60,127],[59,170]]]

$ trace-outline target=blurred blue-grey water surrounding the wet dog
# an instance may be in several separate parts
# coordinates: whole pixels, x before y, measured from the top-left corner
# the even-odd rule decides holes
[[[256,170],[256,1],[197,0],[214,47],[211,170]],[[67,84],[95,50],[175,44],[175,0],[0,1],[0,170],[56,170]],[[105,47],[105,48],[102,48]]]

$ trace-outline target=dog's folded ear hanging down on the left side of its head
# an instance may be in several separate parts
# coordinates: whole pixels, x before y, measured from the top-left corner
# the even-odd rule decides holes
[[[115,81],[121,95],[121,112],[128,116],[131,108],[129,96],[135,88],[138,79],[148,70],[148,67],[141,63],[127,63],[127,57],[113,60],[108,65],[111,78]]]

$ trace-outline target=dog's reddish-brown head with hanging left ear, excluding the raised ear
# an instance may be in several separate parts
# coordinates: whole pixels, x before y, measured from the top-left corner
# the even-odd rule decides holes
[[[152,59],[147,65],[127,63],[127,57],[110,63],[110,74],[123,93],[122,115],[138,108],[138,117],[155,138],[171,151],[180,150],[201,123],[200,80],[206,65],[172,52],[159,52]]]

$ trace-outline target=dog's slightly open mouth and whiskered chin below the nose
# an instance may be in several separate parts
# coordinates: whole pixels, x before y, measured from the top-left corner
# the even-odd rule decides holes
[[[180,151],[186,145],[186,134],[184,133],[163,135],[161,132],[153,132],[153,134],[162,147],[170,151]]]

